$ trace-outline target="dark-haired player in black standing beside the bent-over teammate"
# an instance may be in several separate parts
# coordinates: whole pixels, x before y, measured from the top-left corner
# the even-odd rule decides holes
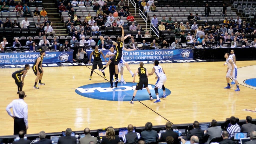
[[[38,79],[39,79],[38,85],[45,85],[44,83],[41,82],[43,74],[44,74],[44,70],[42,67],[42,62],[43,62],[44,56],[45,56],[45,51],[41,50],[40,56],[36,59],[35,64],[32,66],[32,69],[36,75],[35,85],[33,87],[35,89],[39,89],[39,87],[37,86]]]

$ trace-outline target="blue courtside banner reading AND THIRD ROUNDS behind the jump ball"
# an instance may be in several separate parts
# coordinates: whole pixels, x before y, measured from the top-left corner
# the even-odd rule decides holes
[[[88,50],[87,54],[90,56],[92,50]],[[106,55],[109,50],[102,50]],[[191,49],[156,49],[156,50],[134,50],[123,51],[123,58],[125,61],[138,60],[173,60],[173,59],[193,59],[193,51]],[[101,59],[104,61],[103,56]],[[108,59],[107,59],[108,60]]]

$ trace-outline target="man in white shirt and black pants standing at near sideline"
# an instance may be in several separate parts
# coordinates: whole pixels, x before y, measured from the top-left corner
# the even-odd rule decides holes
[[[28,105],[24,102],[26,97],[24,91],[19,92],[19,99],[13,100],[7,107],[6,111],[9,116],[14,118],[14,135],[18,135],[23,130],[25,134],[28,129]],[[13,108],[13,114],[11,112]]]

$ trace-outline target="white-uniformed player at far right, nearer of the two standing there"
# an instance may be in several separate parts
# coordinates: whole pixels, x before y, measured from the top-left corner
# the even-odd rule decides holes
[[[237,81],[237,66],[234,64],[233,60],[229,57],[229,53],[225,54],[226,58],[226,64],[228,65],[227,69],[227,75],[226,75],[226,80],[228,85],[225,87],[226,89],[230,89],[230,84],[229,84],[229,78],[233,79],[236,83],[237,89],[235,91],[240,91],[239,86],[238,86],[238,81]]]

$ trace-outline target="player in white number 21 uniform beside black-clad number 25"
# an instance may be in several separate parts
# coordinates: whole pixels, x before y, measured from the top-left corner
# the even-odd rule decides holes
[[[160,99],[159,99],[159,95],[158,95],[158,88],[163,88],[163,96],[161,98],[166,98],[166,95],[165,95],[165,87],[164,87],[164,84],[166,82],[166,75],[164,73],[164,69],[158,65],[159,64],[159,61],[158,60],[155,60],[154,62],[154,67],[151,71],[151,73],[149,73],[148,75],[152,76],[154,73],[156,74],[156,84],[155,84],[155,93],[156,93],[156,101],[154,103],[157,103],[157,102],[161,102]]]

